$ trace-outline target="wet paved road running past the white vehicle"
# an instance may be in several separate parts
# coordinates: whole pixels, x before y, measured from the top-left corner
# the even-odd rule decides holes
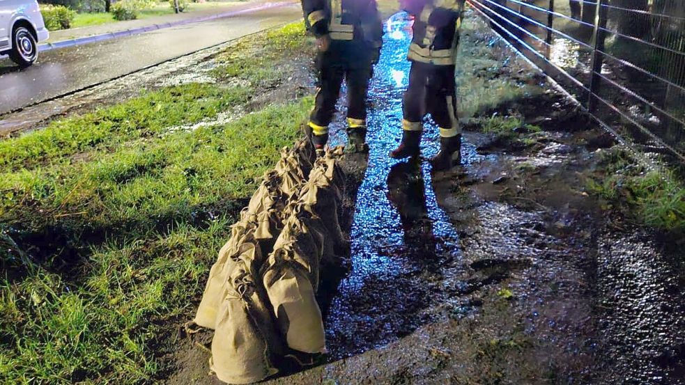
[[[298,3],[43,52],[23,71],[0,59],[0,114],[302,17]],[[259,43],[258,43],[259,44]]]

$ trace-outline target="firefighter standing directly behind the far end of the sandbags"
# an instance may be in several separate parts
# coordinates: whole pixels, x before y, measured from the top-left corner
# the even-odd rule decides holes
[[[368,149],[367,88],[383,42],[383,23],[376,0],[302,0],[307,29],[318,46],[319,89],[311,111],[311,141],[319,154],[328,142],[343,79],[347,81],[346,152]]]

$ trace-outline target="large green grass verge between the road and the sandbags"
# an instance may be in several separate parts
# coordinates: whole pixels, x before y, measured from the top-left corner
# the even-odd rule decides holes
[[[263,38],[306,57],[301,26]],[[0,142],[0,383],[168,373],[229,224],[311,108],[307,97],[184,128],[263,91],[241,76],[255,86],[162,88]]]

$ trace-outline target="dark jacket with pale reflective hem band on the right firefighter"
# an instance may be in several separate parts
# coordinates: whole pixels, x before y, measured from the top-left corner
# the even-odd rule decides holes
[[[403,8],[415,17],[410,61],[454,65],[464,0],[408,0]]]

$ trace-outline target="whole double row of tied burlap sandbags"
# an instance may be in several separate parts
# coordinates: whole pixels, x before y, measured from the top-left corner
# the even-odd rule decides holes
[[[346,242],[337,217],[344,177],[330,155],[314,159],[307,142],[282,151],[210,270],[194,321],[215,329],[210,366],[224,382],[275,374],[286,347],[325,352],[314,296],[321,265],[335,265]]]

